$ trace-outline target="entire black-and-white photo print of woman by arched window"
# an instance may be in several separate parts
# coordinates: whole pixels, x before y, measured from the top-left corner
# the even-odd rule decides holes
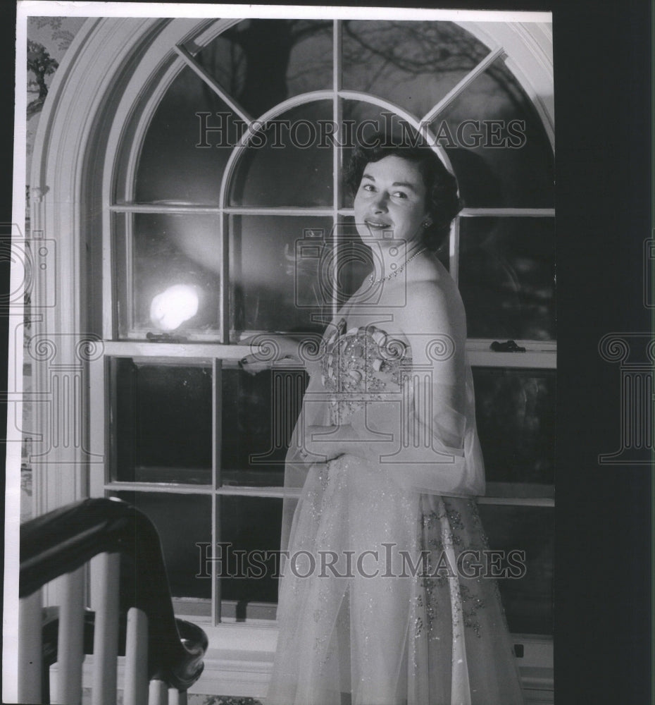
[[[559,702],[553,13],[16,26],[3,700]],[[595,343],[642,482],[651,331]]]

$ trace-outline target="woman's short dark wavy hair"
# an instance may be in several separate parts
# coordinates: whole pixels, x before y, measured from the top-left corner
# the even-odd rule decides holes
[[[430,250],[438,250],[448,237],[450,223],[460,212],[462,203],[457,195],[455,177],[425,142],[412,143],[384,133],[373,135],[367,140],[366,145],[355,147],[344,171],[344,183],[354,197],[366,165],[392,154],[416,164],[423,177],[426,206],[432,219],[432,225],[425,228],[423,232],[423,244]]]

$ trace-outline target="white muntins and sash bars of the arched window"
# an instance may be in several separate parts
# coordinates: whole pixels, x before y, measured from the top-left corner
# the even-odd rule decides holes
[[[219,32],[213,32],[216,27],[203,27],[201,35],[204,41],[209,41],[209,37],[218,37],[221,32],[227,30],[228,27],[235,26],[236,22],[224,25],[223,23],[216,23],[220,27]],[[432,108],[430,108],[425,115],[420,116],[417,120],[416,116],[413,116],[408,111],[401,108],[392,102],[382,99],[380,97],[373,96],[361,91],[354,90],[344,90],[342,88],[342,20],[335,19],[332,22],[332,88],[325,90],[314,90],[311,92],[305,92],[298,94],[296,96],[290,97],[285,101],[273,106],[268,109],[261,116],[250,116],[247,111],[245,111],[242,106],[238,104],[236,99],[234,99],[229,92],[223,89],[221,85],[209,74],[194,58],[185,44],[193,44],[197,51],[200,51],[199,47],[202,47],[201,41],[197,37],[185,38],[182,42],[177,42],[175,44],[174,50],[177,54],[178,60],[173,61],[168,67],[168,70],[163,75],[161,79],[158,80],[158,85],[156,90],[149,92],[149,97],[142,106],[142,110],[139,113],[139,118],[137,121],[137,126],[130,133],[127,138],[127,150],[125,150],[125,142],[120,145],[117,150],[117,154],[123,155],[123,159],[126,161],[127,166],[121,169],[120,172],[118,167],[112,170],[112,173],[107,175],[109,183],[106,183],[106,192],[114,195],[113,200],[110,201],[109,211],[111,214],[125,214],[125,237],[127,243],[130,243],[132,238],[131,233],[131,223],[132,219],[130,214],[137,213],[153,213],[153,214],[215,214],[217,216],[217,222],[219,224],[218,231],[218,249],[222,252],[222,266],[221,266],[221,277],[220,277],[220,331],[218,333],[219,343],[190,343],[189,345],[175,345],[175,343],[144,343],[143,338],[145,337],[146,331],[133,331],[135,335],[135,340],[130,341],[125,338],[117,341],[118,338],[118,315],[116,308],[116,301],[114,300],[114,294],[118,288],[118,277],[116,272],[116,264],[114,263],[113,257],[113,232],[111,229],[105,231],[104,238],[106,239],[105,249],[109,252],[109,256],[105,258],[104,261],[104,297],[103,297],[103,307],[104,307],[104,343],[106,345],[106,355],[107,357],[113,357],[116,355],[132,355],[134,357],[145,356],[146,359],[151,359],[154,357],[163,358],[167,360],[170,358],[184,357],[189,359],[189,352],[192,353],[194,360],[199,360],[201,358],[206,358],[208,362],[211,362],[213,366],[213,388],[216,389],[220,386],[216,375],[220,374],[220,363],[223,360],[235,360],[240,359],[245,352],[238,345],[235,346],[234,343],[230,345],[229,341],[231,336],[230,329],[230,319],[229,310],[227,302],[230,298],[230,257],[229,257],[229,224],[228,219],[231,215],[294,215],[294,216],[332,216],[332,223],[336,225],[340,218],[344,216],[353,215],[352,208],[346,208],[340,206],[342,203],[342,193],[340,192],[341,180],[339,178],[342,164],[340,159],[342,157],[342,150],[332,146],[332,207],[257,207],[257,206],[231,206],[228,201],[228,194],[230,192],[230,184],[232,178],[235,176],[237,171],[239,160],[242,159],[244,153],[246,152],[245,147],[249,145],[251,138],[256,133],[253,124],[255,123],[266,123],[267,121],[277,118],[278,116],[285,114],[289,109],[311,104],[318,101],[329,100],[332,103],[332,120],[335,123],[339,123],[342,116],[342,104],[344,100],[353,100],[358,102],[364,102],[371,104],[382,109],[391,111],[396,116],[404,119],[413,127],[418,128],[420,124],[428,124],[434,121],[440,114],[443,113],[447,107],[456,100],[461,94],[466,92],[469,85],[471,85],[478,76],[482,75],[484,71],[497,61],[498,59],[504,58],[505,51],[503,47],[495,47],[489,49],[487,56],[485,56],[478,64],[469,71],[466,76],[461,79],[447,94],[437,102]],[[181,60],[181,61],[180,61]],[[208,87],[213,90],[214,93],[220,97],[230,108],[235,111],[237,116],[241,118],[246,123],[246,129],[244,130],[239,143],[232,148],[230,157],[227,159],[227,164],[223,171],[223,177],[221,178],[219,197],[217,206],[207,206],[202,204],[158,204],[158,203],[139,203],[134,200],[134,193],[136,189],[136,173],[137,173],[137,162],[142,149],[142,144],[144,137],[146,135],[146,130],[151,122],[152,117],[156,111],[156,108],[161,101],[164,94],[166,94],[170,85],[173,84],[177,75],[183,68],[189,67],[203,80]],[[431,135],[434,139],[434,135]],[[445,149],[442,147],[436,147],[435,151],[439,154],[439,157],[444,161],[449,169],[452,171],[452,166],[448,159],[448,155]],[[120,159],[120,157],[118,157]],[[118,161],[118,160],[117,160]],[[519,216],[519,217],[549,217],[554,215],[554,209],[527,209],[527,208],[478,208],[478,209],[465,209],[461,214],[459,214],[451,228],[450,235],[450,271],[451,275],[458,281],[459,274],[459,222],[461,218],[468,217],[479,217],[479,216]],[[127,246],[129,252],[130,247]],[[127,255],[129,259],[129,255]],[[128,265],[129,266],[129,265]],[[127,276],[127,286],[129,288],[130,276]],[[128,293],[129,300],[129,293]],[[332,302],[332,315],[337,312],[337,302],[334,300]],[[245,334],[252,334],[261,331],[247,331]],[[471,360],[473,365],[480,365],[485,367],[531,367],[531,368],[551,368],[554,367],[554,357],[552,353],[556,350],[556,343],[554,341],[549,341],[547,343],[537,343],[537,341],[520,341],[520,344],[526,348],[526,353],[521,355],[516,355],[516,353],[494,353],[489,350],[490,340],[487,339],[477,339],[471,340],[467,343],[467,350],[473,359]],[[199,347],[202,349],[199,350]],[[214,418],[218,418],[218,409],[220,409],[220,398],[217,393],[214,395]],[[221,439],[221,429],[220,424],[213,424],[214,436],[212,439],[213,448],[220,448]],[[109,449],[108,449],[109,450]],[[219,485],[217,482],[217,474],[219,471],[218,465],[220,463],[220,458],[214,457],[213,470],[212,470],[212,482],[210,486],[200,486],[195,489],[195,494],[209,494],[216,499],[212,503],[212,534],[216,532],[216,520],[218,520],[218,512],[216,509],[216,503],[218,497],[220,496],[257,496],[266,498],[282,498],[284,496],[284,490],[282,488],[276,487],[266,487],[261,486],[258,488],[254,487],[238,487],[238,486],[223,486]],[[130,489],[135,491],[151,491],[151,492],[165,492],[170,494],[177,494],[179,492],[192,492],[191,488],[186,486],[169,486],[162,485],[159,483],[149,483],[149,482],[116,482],[108,477],[106,473],[105,482],[100,486],[99,483],[94,483],[92,486],[92,492],[108,492],[108,491],[118,491],[120,489]],[[512,499],[508,496],[511,493],[511,486],[506,485],[504,489],[505,496],[495,497],[486,496],[481,498],[481,503],[488,504],[515,504],[515,505],[535,505],[535,506],[549,506],[552,505],[552,498],[538,497],[532,500],[528,498]],[[222,615],[220,615],[220,588],[217,586],[217,577],[215,575],[215,570],[212,570],[212,590],[211,590],[211,622],[213,624],[218,624],[223,620]],[[188,616],[182,613],[182,616]]]

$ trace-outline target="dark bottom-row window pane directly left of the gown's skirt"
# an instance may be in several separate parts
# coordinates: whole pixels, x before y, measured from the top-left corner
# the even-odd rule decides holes
[[[252,603],[277,603],[282,500],[266,497],[218,498],[221,614],[244,619]],[[229,544],[229,546],[225,546]],[[217,547],[218,550],[219,547]],[[239,559],[237,551],[244,551]],[[240,564],[240,565],[239,565]],[[277,570],[276,570],[277,568]],[[255,605],[256,606],[256,605]],[[266,613],[262,615],[266,617]],[[270,618],[275,618],[273,611]]]

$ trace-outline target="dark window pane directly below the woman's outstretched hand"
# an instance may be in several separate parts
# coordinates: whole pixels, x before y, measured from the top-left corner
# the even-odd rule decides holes
[[[225,363],[221,380],[221,484],[282,486],[306,374],[269,369],[251,375]]]

